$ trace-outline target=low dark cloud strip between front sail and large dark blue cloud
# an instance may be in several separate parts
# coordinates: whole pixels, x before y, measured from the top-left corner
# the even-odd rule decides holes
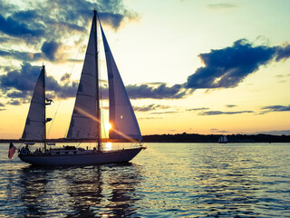
[[[152,98],[152,99],[179,99],[184,98],[191,93],[182,84],[174,84],[168,87],[166,84],[148,85],[148,84],[130,84],[126,90],[131,99]]]

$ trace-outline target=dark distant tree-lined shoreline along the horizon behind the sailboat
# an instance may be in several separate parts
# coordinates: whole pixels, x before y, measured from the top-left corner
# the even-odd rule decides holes
[[[143,143],[218,143],[222,134],[150,134],[143,135]],[[290,135],[227,134],[228,143],[290,143]],[[23,143],[20,139],[0,139],[0,143]],[[27,142],[27,141],[25,141]],[[93,143],[96,140],[47,139],[47,143]],[[134,143],[126,139],[102,139],[103,143]],[[135,141],[136,143],[138,141]]]

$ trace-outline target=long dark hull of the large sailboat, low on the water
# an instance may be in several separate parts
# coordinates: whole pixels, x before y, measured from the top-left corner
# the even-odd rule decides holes
[[[74,155],[22,155],[19,158],[26,163],[42,166],[87,165],[103,163],[126,163],[131,161],[144,147],[132,148],[113,152]]]

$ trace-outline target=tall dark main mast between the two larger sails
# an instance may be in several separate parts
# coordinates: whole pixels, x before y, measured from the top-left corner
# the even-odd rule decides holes
[[[93,10],[94,22],[94,45],[95,45],[95,63],[96,63],[96,97],[97,97],[97,138],[98,138],[98,152],[102,151],[102,135],[101,135],[101,109],[100,109],[100,94],[99,94],[99,57],[98,57],[98,35],[97,35],[97,11]]]

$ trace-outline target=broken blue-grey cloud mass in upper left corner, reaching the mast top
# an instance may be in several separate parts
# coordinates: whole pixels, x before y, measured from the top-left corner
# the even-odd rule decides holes
[[[23,51],[23,46],[19,46],[17,52],[7,51],[9,46],[5,46],[5,49],[0,46],[0,55],[22,62],[38,61],[41,58],[59,61],[55,54],[59,54],[59,59],[63,61],[78,61],[72,60],[71,54],[64,51],[65,48],[73,46],[67,39],[75,35],[75,41],[82,42],[91,27],[88,24],[91,23],[94,8],[102,23],[116,30],[124,21],[138,17],[123,5],[122,0],[36,0],[24,1],[21,6],[14,1],[0,0],[0,5],[0,43],[25,43],[34,51],[27,53]]]

